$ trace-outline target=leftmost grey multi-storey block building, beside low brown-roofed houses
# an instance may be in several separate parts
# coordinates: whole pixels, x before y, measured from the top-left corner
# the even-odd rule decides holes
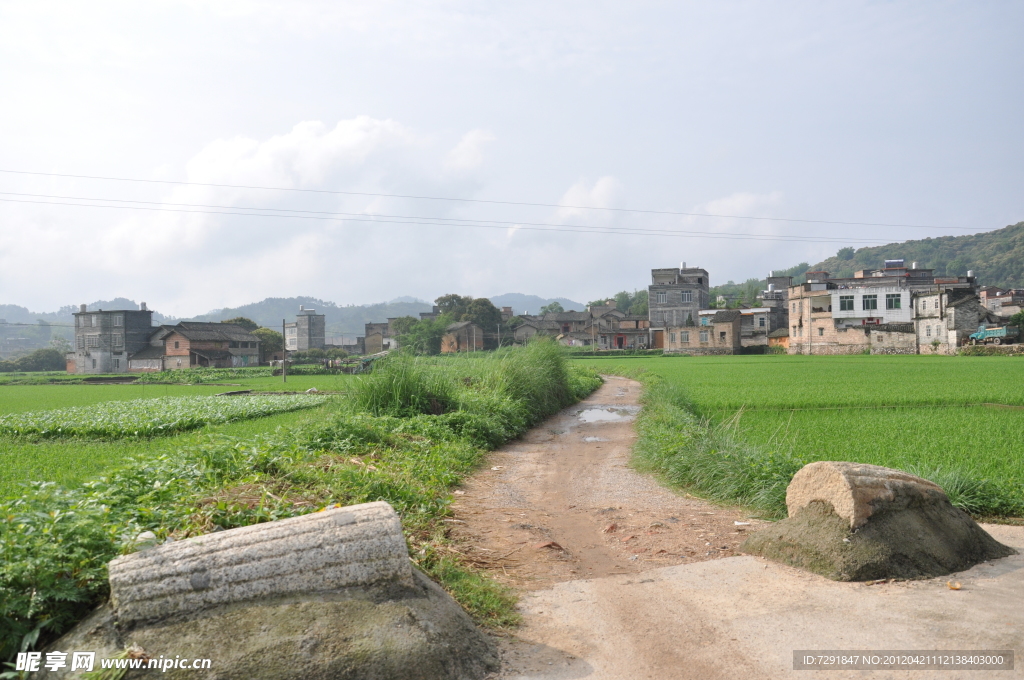
[[[67,354],[68,373],[127,373],[128,359],[145,349],[153,334],[153,311],[140,309],[87,311],[75,316],[75,349]]]

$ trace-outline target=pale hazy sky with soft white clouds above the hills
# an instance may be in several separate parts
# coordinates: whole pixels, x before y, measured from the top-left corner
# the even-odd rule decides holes
[[[976,0],[2,2],[0,303],[586,301],[999,228],[1022,28]]]

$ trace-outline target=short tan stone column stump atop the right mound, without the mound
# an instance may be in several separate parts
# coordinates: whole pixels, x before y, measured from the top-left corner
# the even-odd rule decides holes
[[[805,465],[785,490],[790,516],[813,501],[831,505],[850,528],[867,522],[872,513],[907,508],[945,499],[938,484],[912,474],[861,463],[819,461]]]

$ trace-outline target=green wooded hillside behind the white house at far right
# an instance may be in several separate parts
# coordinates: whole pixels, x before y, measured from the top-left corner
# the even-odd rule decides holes
[[[881,267],[887,259],[916,262],[938,275],[959,277],[973,269],[983,286],[1024,288],[1024,222],[966,237],[939,237],[871,248],[844,248],[812,270],[852,277],[858,269]]]

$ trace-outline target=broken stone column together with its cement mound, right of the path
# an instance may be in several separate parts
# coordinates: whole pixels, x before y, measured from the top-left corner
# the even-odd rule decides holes
[[[790,516],[740,547],[836,581],[921,579],[1015,554],[940,486],[876,465],[811,463],[786,491]]]

